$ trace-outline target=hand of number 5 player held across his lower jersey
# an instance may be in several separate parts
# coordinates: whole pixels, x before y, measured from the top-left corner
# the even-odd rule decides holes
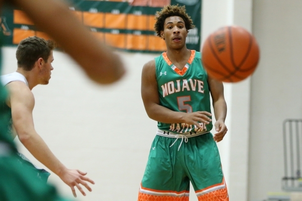
[[[199,123],[202,122],[205,124],[209,124],[210,121],[212,121],[209,116],[212,116],[212,114],[207,111],[185,113],[184,123],[187,123],[189,125],[196,125],[198,128],[202,128]]]

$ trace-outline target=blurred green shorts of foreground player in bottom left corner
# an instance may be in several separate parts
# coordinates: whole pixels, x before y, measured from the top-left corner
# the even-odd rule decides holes
[[[0,200],[68,201],[69,199],[60,197],[53,186],[37,177],[36,171],[20,163],[18,156],[0,153]]]

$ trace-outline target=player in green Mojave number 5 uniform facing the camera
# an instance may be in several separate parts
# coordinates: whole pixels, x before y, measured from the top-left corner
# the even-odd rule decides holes
[[[185,7],[164,7],[154,27],[167,51],[146,63],[142,71],[142,99],[148,116],[158,121],[158,129],[138,200],[188,201],[191,181],[199,201],[226,201],[216,146],[227,132],[223,85],[207,75],[201,53],[186,47],[188,30],[194,25]],[[214,136],[210,133],[210,93]]]

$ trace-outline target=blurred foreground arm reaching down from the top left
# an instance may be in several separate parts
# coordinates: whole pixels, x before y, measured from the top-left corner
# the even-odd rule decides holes
[[[109,84],[125,74],[119,56],[101,43],[59,0],[11,0],[35,25],[69,53],[95,82]]]

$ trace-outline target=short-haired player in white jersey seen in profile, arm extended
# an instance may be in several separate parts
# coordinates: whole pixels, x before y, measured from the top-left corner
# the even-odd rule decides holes
[[[94,184],[94,181],[86,177],[84,172],[66,168],[53,155],[34,128],[32,111],[35,100],[31,90],[39,84],[48,84],[53,70],[51,62],[53,61],[52,50],[54,47],[55,43],[53,41],[46,41],[36,36],[22,40],[16,52],[17,71],[1,78],[3,85],[9,91],[6,106],[11,109],[11,130],[16,131],[12,131],[12,135],[13,137],[17,135],[20,142],[38,161],[69,185],[75,196],[74,186],[77,186],[86,195],[79,184],[84,185],[91,191],[87,181],[92,184]],[[37,169],[23,155],[19,156],[19,160],[25,166],[31,166],[42,180],[47,181],[48,172]]]

